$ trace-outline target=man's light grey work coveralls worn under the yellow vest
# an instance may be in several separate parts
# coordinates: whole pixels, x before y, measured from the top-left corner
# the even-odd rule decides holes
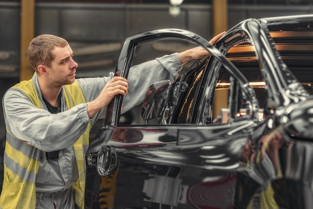
[[[146,89],[153,83],[163,79],[171,81],[177,78],[181,69],[178,53],[165,55],[154,60],[133,66],[129,72],[128,93],[123,98],[123,112],[140,103]],[[86,101],[95,99],[103,89],[105,83],[113,77],[109,73],[106,77],[78,78],[76,79],[83,91]],[[70,186],[78,178],[77,163],[75,160],[73,143],[85,131],[88,122],[86,105],[78,104],[67,109],[64,92],[61,90],[61,112],[51,114],[45,106],[36,75],[32,81],[38,93],[42,109],[34,106],[29,98],[20,90],[11,88],[3,96],[2,105],[5,124],[11,134],[7,137],[21,139],[41,150],[39,170],[36,175],[36,192],[49,193],[37,196],[38,208],[47,208],[45,202],[52,201],[60,206],[56,208],[71,208],[64,205],[73,205],[73,199],[63,201],[64,196],[69,196]],[[105,109],[98,112],[91,119],[93,124],[98,118],[103,117]],[[14,136],[13,136],[14,135]],[[87,147],[84,149],[86,150]],[[60,150],[58,159],[47,159],[45,152]],[[69,189],[69,190],[68,190]],[[62,195],[56,195],[64,192]],[[54,196],[51,198],[51,196]],[[59,199],[58,199],[59,198]],[[47,200],[50,199],[50,200]],[[41,206],[39,206],[41,205]]]

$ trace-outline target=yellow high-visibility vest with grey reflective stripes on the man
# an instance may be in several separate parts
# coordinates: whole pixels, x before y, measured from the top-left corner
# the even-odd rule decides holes
[[[21,89],[35,106],[41,108],[41,103],[32,80],[21,81],[11,88]],[[68,109],[86,102],[76,80],[70,85],[64,85],[63,90]],[[72,185],[72,189],[75,203],[81,208],[84,208],[84,155],[88,147],[90,128],[91,123],[89,122],[85,132],[73,144],[79,178]],[[35,178],[39,168],[41,151],[20,139],[16,140],[8,129],[7,133],[10,136],[7,137],[4,150],[4,161],[6,163],[4,164],[4,181],[0,196],[0,206],[2,209],[35,208]]]

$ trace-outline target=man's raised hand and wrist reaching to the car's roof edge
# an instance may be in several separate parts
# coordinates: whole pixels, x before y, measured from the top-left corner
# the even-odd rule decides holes
[[[215,35],[210,41],[208,41],[210,44],[215,44],[215,42],[223,35],[225,34],[224,32],[219,33],[218,35]],[[204,55],[207,55],[209,52],[202,48],[201,46],[197,46],[194,48],[190,48],[188,50],[185,50],[183,52],[178,53],[178,57],[180,59],[180,63],[184,64],[187,61],[191,59],[198,59],[201,58]]]

